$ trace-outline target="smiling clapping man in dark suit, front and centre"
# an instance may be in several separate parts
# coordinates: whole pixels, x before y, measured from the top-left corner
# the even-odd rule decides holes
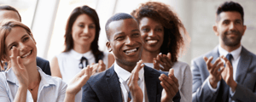
[[[115,14],[108,20],[105,29],[108,51],[113,51],[116,60],[107,71],[90,77],[82,88],[82,102],[127,102],[135,101],[133,99],[137,98],[143,102],[179,101],[178,83],[173,71],[166,77],[160,71],[141,65],[142,62],[139,60],[143,50],[143,39],[137,20],[130,14]],[[136,65],[143,67],[137,75],[131,73],[136,69]],[[129,84],[128,87],[127,84],[134,80],[137,85]],[[137,86],[137,89],[131,86]],[[140,95],[134,94],[136,91],[140,92],[136,93]]]

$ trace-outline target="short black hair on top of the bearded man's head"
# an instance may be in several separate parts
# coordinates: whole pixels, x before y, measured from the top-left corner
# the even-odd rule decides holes
[[[219,15],[222,12],[227,12],[227,11],[236,11],[238,13],[241,14],[241,20],[242,22],[243,20],[243,16],[244,16],[244,12],[243,12],[243,8],[241,7],[241,5],[239,3],[235,3],[235,2],[225,2],[223,4],[221,4],[218,9],[216,14]]]

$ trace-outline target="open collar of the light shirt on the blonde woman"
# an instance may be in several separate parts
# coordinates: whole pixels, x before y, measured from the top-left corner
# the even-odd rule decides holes
[[[41,82],[43,83],[44,86],[49,86],[50,84],[54,84],[55,82],[53,81],[52,77],[49,75],[46,75],[41,68],[37,67],[38,72],[41,76]],[[8,82],[15,83],[17,86],[19,86],[19,81],[17,77],[15,76],[15,72],[12,70],[12,68],[9,69],[9,71],[6,71],[6,80]]]

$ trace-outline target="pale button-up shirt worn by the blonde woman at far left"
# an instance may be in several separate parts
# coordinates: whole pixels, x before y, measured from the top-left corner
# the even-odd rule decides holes
[[[37,102],[63,102],[67,84],[59,77],[50,77],[38,67],[41,81],[38,87]],[[13,102],[19,89],[19,81],[12,68],[9,71],[0,72],[0,101]],[[33,102],[32,94],[26,92],[26,102]]]

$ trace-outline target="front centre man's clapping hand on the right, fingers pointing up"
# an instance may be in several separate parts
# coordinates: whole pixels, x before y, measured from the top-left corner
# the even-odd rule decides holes
[[[170,102],[172,98],[178,92],[178,81],[177,78],[174,77],[174,70],[170,69],[168,77],[165,74],[161,74],[160,77],[160,84],[163,87],[161,102]]]

